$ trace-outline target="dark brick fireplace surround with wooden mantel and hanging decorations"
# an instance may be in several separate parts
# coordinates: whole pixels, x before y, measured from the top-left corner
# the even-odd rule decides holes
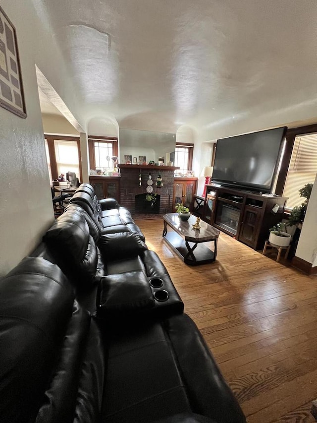
[[[141,165],[118,165],[121,172],[120,178],[120,204],[135,213],[135,196],[146,194],[149,174],[152,175],[153,194],[159,194],[159,213],[172,213],[174,171],[175,167],[170,166],[141,166]],[[141,186],[139,186],[139,175],[141,174]],[[163,186],[157,188],[156,181],[161,176]]]

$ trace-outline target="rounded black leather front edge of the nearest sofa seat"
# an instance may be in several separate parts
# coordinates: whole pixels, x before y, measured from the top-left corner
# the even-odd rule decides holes
[[[180,314],[166,319],[163,324],[195,413],[221,423],[246,423],[194,321],[188,315]]]

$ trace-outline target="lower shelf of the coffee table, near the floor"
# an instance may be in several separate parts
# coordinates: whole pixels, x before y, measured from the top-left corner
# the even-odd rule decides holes
[[[185,240],[176,234],[176,232],[167,232],[167,234],[164,236],[164,240],[173,248],[173,250],[186,264],[195,266],[198,264],[211,263],[215,260],[214,252],[211,251],[211,249],[206,245],[204,245],[204,243],[198,243],[194,248],[193,254],[196,258],[196,260],[194,260],[189,255]],[[214,242],[216,242],[216,240]],[[191,248],[193,248],[195,242],[188,242],[188,244]]]

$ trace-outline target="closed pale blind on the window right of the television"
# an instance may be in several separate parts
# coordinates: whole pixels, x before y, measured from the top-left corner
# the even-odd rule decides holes
[[[288,167],[283,195],[289,197],[287,209],[299,206],[305,198],[298,190],[314,183],[317,173],[317,133],[297,135]]]

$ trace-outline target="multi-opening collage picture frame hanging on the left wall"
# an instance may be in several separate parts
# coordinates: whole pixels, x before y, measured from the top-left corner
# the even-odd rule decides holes
[[[15,28],[0,6],[0,106],[25,119],[26,109]]]

